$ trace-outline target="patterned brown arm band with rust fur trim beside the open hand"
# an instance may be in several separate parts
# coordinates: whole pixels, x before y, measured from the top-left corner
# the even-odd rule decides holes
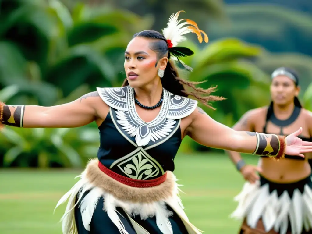
[[[257,146],[252,154],[266,155],[276,159],[285,157],[286,141],[284,136],[258,132],[249,132],[248,134],[257,137]]]

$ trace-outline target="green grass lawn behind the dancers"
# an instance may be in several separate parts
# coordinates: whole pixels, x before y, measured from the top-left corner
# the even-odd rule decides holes
[[[256,164],[257,157],[245,157]],[[175,175],[185,194],[185,212],[199,229],[210,234],[237,233],[239,221],[229,218],[235,209],[233,197],[244,183],[241,175],[222,154],[178,155]],[[61,233],[58,223],[66,204],[53,210],[78,180],[73,170],[0,170],[0,233]]]

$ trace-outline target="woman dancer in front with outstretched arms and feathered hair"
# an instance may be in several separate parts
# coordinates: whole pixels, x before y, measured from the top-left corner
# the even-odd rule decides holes
[[[208,147],[282,158],[312,151],[297,136],[237,132],[197,107],[222,100],[214,88],[196,88],[178,76],[173,61],[193,51],[179,47],[183,34],[207,35],[191,20],[172,15],[163,34],[134,35],[125,51],[122,88],[98,88],[71,103],[52,106],[3,105],[3,124],[26,128],[79,127],[95,121],[100,130],[97,159],[58,202],[69,199],[63,233],[200,233],[188,220],[173,175],[174,157],[188,135]],[[189,26],[185,26],[189,25]],[[194,91],[184,90],[183,85]],[[206,94],[208,96],[203,96]]]

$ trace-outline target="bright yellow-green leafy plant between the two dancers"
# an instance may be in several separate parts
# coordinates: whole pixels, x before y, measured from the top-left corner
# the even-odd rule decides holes
[[[200,104],[213,119],[232,126],[247,110],[269,103],[269,76],[251,62],[261,56],[263,49],[234,38],[209,42],[201,50],[189,41],[182,44],[195,52],[181,59],[193,68],[193,72],[183,75],[192,81],[207,80],[200,85],[202,88],[217,86],[213,95],[227,98],[211,103],[217,110]],[[183,152],[207,150],[192,140],[184,141]]]

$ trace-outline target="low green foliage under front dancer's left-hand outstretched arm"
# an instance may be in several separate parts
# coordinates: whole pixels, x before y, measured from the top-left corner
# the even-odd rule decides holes
[[[86,137],[88,136],[88,137]],[[58,165],[82,168],[91,152],[96,152],[98,131],[96,129],[20,129],[6,127],[1,140],[7,151],[3,165],[38,166],[45,168]]]

